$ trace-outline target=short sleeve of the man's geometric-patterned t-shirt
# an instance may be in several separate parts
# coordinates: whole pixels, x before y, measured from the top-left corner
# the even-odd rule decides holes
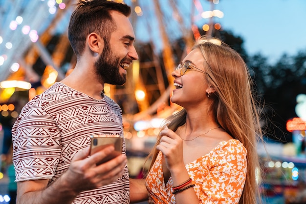
[[[41,107],[26,105],[12,128],[16,182],[51,179],[61,154],[60,130]]]

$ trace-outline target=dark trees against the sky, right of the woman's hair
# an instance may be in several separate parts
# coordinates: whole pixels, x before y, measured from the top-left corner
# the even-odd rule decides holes
[[[286,121],[297,117],[296,96],[306,93],[306,51],[292,57],[284,54],[274,65],[257,54],[249,57],[248,66],[264,99],[268,135],[283,143],[291,142]]]

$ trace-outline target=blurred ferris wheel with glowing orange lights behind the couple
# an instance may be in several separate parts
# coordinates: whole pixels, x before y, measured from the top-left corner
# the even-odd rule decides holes
[[[199,36],[198,19],[205,18],[208,23],[203,29],[210,26],[206,32],[211,35],[213,19],[218,15],[218,10],[213,9],[219,1],[116,1],[132,8],[130,20],[139,60],[127,70],[126,84],[106,84],[105,94],[122,107],[126,127],[140,120],[165,118],[179,108],[169,100],[171,72]],[[13,103],[18,112],[25,102],[64,79],[73,69],[76,58],[67,27],[76,2],[0,1],[0,104]],[[204,9],[202,4],[209,8]],[[142,39],[144,36],[147,39]],[[16,85],[20,81],[28,87]]]

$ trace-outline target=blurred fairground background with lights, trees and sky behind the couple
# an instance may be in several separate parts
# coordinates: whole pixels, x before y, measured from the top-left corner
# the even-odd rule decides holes
[[[123,86],[105,85],[122,108],[131,177],[142,176],[170,102],[171,72],[200,35],[221,39],[247,63],[265,104],[262,199],[306,203],[306,1],[116,0],[132,8],[139,60]],[[11,127],[23,105],[76,63],[67,27],[76,0],[0,0],[0,204],[16,193]],[[85,85],[85,84],[84,84]],[[146,166],[144,166],[146,168]]]

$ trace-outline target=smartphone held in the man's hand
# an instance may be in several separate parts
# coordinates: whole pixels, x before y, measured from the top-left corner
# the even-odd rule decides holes
[[[114,146],[114,151],[107,155],[97,165],[105,163],[122,154],[122,137],[120,135],[92,135],[90,144],[90,155],[108,146]]]

